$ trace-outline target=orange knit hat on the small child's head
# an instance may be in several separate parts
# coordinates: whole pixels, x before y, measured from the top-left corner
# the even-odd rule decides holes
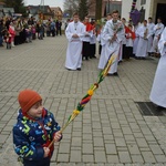
[[[18,96],[22,113],[25,114],[37,102],[42,101],[42,97],[32,90],[23,90]]]

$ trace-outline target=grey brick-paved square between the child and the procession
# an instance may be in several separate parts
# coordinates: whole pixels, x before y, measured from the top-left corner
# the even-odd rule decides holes
[[[62,126],[96,82],[98,59],[83,61],[82,71],[64,69],[66,44],[63,35],[0,48],[0,166],[20,165],[11,134],[19,91],[38,91]],[[120,76],[105,77],[55,145],[51,166],[166,165],[166,116],[143,116],[136,104],[149,102],[157,63],[132,59]]]

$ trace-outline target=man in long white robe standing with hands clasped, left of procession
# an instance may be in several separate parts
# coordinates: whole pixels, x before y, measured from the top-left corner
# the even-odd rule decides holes
[[[82,65],[82,39],[85,34],[85,27],[79,21],[77,13],[73,14],[73,21],[69,23],[65,30],[68,39],[68,50],[65,68],[68,70],[81,70]]]

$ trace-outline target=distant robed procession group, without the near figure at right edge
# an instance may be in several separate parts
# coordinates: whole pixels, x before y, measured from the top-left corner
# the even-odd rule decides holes
[[[112,66],[114,70],[108,75],[118,75],[117,63],[123,60],[129,60],[129,58],[145,60],[146,56],[159,56],[158,41],[164,24],[160,18],[157,19],[156,24],[149,17],[148,21],[144,20],[142,23],[133,25],[132,21],[126,23],[125,18],[120,19],[118,11],[113,11],[113,13],[107,14],[106,23],[98,30],[94,20],[90,22],[90,18],[85,17],[84,21],[81,22],[79,14],[74,13],[73,20],[65,29],[69,40],[65,68],[68,70],[81,70],[82,60],[96,58],[95,44],[97,41],[100,42],[101,55],[98,69],[104,69],[110,54],[114,52],[117,55],[116,63],[114,63],[115,68]],[[72,51],[74,48],[75,51]],[[76,55],[76,60],[80,62],[70,55],[73,54],[72,52],[82,56],[79,59]],[[75,65],[76,63],[79,65]]]

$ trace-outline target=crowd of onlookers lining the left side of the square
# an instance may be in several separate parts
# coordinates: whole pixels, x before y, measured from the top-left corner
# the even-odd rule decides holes
[[[7,43],[7,49],[32,42],[32,40],[43,40],[44,35],[62,35],[62,22],[49,19],[45,22],[35,21],[33,17],[24,18],[0,18],[0,46]]]

